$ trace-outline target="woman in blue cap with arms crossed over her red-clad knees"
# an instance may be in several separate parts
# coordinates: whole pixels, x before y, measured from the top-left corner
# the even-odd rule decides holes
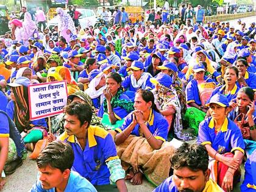
[[[199,125],[198,143],[203,144],[213,159],[211,177],[218,185],[232,191],[240,182],[240,165],[244,157],[244,141],[240,129],[226,117],[229,101],[223,94],[215,94],[207,104],[212,117]]]

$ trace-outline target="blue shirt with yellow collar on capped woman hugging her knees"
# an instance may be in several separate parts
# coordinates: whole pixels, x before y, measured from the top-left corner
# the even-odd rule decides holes
[[[210,144],[219,154],[236,150],[244,154],[245,146],[241,130],[229,118],[225,118],[218,133],[215,133],[212,117],[202,121],[199,124],[197,143],[202,145]]]

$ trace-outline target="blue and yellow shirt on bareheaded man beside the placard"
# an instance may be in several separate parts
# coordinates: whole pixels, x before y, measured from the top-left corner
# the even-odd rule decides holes
[[[74,151],[73,171],[79,172],[80,176],[85,177],[93,185],[110,184],[110,171],[106,163],[119,158],[110,133],[98,126],[89,126],[84,150],[75,135],[68,136],[64,132],[59,140],[68,142]]]

